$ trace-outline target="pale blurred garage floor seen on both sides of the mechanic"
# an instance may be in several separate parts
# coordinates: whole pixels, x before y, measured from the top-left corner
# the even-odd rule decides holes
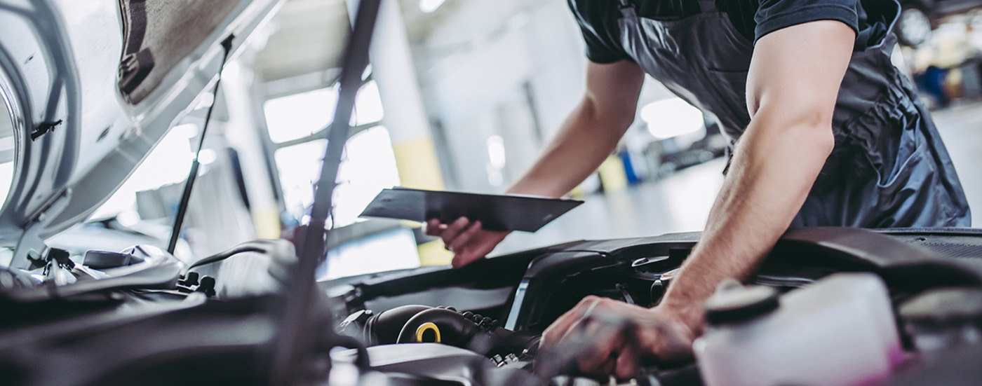
[[[935,112],[961,178],[976,227],[982,225],[982,103]],[[536,233],[517,232],[492,255],[581,239],[652,236],[701,230],[723,183],[725,161],[684,169],[627,190],[587,197],[585,203]]]

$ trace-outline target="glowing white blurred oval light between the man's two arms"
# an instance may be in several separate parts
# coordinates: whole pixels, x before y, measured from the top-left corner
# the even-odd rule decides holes
[[[641,121],[658,139],[668,139],[698,131],[705,124],[702,112],[681,98],[652,102],[641,108]]]

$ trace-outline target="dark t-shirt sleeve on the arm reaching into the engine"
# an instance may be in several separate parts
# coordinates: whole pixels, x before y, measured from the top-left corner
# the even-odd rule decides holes
[[[754,41],[791,25],[838,21],[859,31],[859,0],[761,0],[754,15]]]

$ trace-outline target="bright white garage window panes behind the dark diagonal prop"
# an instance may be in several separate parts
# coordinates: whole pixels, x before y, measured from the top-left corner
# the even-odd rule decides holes
[[[297,223],[309,221],[312,186],[320,177],[327,148],[323,130],[334,120],[337,98],[335,86],[271,99],[264,105],[283,201]],[[355,99],[352,135],[345,143],[328,219],[331,228],[358,225],[363,221],[358,215],[382,189],[400,184],[389,130],[381,124],[384,116],[378,86],[369,80]],[[327,262],[317,269],[319,279],[419,266],[411,230],[364,233],[363,229],[351,228],[349,233],[356,238],[341,241],[328,253]]]

